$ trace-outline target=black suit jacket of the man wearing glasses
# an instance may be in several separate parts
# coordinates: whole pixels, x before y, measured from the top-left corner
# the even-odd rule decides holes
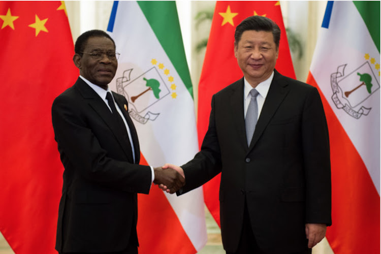
[[[151,170],[140,166],[139,141],[124,109],[126,99],[113,92],[129,124],[131,145],[113,124],[111,111],[81,78],[53,102],[52,122],[63,172],[58,210],[56,250],[59,252],[112,252],[136,234],[137,193],[148,194]]]

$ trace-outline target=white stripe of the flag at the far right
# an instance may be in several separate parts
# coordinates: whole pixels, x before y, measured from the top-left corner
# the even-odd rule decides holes
[[[348,20],[344,16],[350,16],[352,19]],[[328,41],[332,43],[327,44]],[[379,69],[377,71],[374,68],[375,65],[369,63],[365,55],[368,54],[370,58],[375,59],[375,63],[379,64],[380,54],[353,2],[350,4],[346,1],[334,2],[329,28],[321,29],[314,52],[313,59],[325,59],[325,61],[314,60],[311,65],[311,73],[362,157],[379,194],[380,77]],[[361,115],[359,119],[356,119],[343,109],[336,107],[332,99],[331,74],[336,73],[338,69],[343,70],[343,76],[337,77],[339,88],[342,89],[339,99],[356,111],[360,110],[361,107],[365,108],[364,111],[370,109],[369,112],[366,112],[368,115]],[[362,86],[355,90],[356,95],[354,92],[346,97],[344,92],[350,92],[361,84],[361,82],[359,84],[354,83],[354,77],[357,77],[357,80],[359,78],[357,72],[369,72],[374,77],[371,94],[368,93],[366,96],[366,86]]]

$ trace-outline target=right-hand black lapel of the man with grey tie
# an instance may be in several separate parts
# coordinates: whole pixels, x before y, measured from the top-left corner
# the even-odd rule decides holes
[[[289,92],[288,83],[276,70],[274,70],[274,72],[274,78],[270,84],[270,89],[267,93],[265,103],[258,119],[256,130],[254,131],[249,150],[255,146],[258,139],[266,129],[266,126],[269,124],[271,118],[275,114],[276,110],[279,108],[279,105]]]

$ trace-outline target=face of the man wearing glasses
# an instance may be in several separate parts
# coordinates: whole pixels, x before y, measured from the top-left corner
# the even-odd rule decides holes
[[[107,52],[115,52],[114,44],[106,37],[90,37],[83,52],[82,56],[75,54],[73,57],[79,74],[91,83],[107,89],[118,68],[117,59],[107,55]]]

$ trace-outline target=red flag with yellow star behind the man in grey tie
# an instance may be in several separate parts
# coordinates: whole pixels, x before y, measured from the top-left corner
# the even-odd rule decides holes
[[[199,83],[197,129],[200,145],[208,129],[213,94],[243,77],[234,56],[234,31],[242,20],[253,15],[266,16],[279,26],[281,36],[275,68],[281,74],[295,79],[279,2],[217,2]],[[205,204],[218,225],[219,182],[220,175],[217,175],[203,186]]]

